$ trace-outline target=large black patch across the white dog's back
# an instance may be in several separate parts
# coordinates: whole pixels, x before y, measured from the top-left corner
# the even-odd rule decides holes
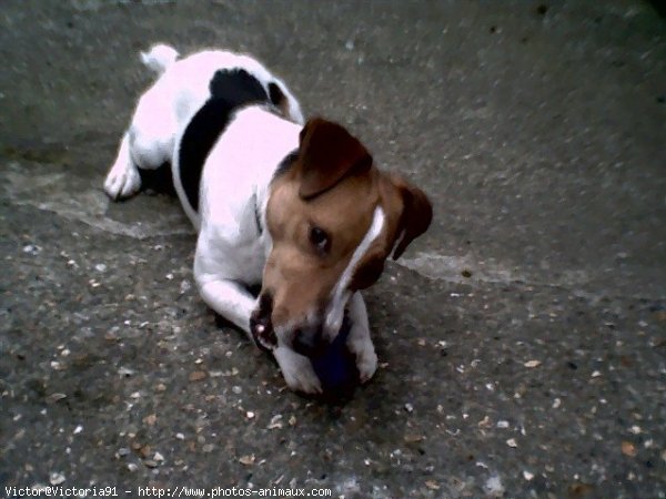
[[[259,80],[245,70],[216,71],[209,89],[211,96],[188,123],[178,152],[181,183],[194,211],[199,211],[203,163],[233,113],[248,104],[269,102]]]

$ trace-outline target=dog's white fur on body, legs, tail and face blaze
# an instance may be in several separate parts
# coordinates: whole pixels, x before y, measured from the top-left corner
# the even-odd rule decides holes
[[[206,304],[250,335],[250,316],[258,302],[245,285],[261,282],[272,247],[266,226],[270,183],[280,162],[299,146],[303,115],[286,85],[248,55],[225,51],[204,51],[178,60],[178,52],[157,45],[142,54],[143,62],[160,74],[138,102],[132,122],[121,141],[118,157],[104,182],[111,198],[128,197],[139,191],[138,169],[172,165],[173,181],[183,208],[198,230],[194,278]],[[244,69],[264,89],[269,82],[280,86],[289,105],[285,119],[262,106],[248,106],[235,113],[211,150],[202,173],[200,213],[190,205],[178,165],[179,142],[194,113],[209,99],[209,82],[220,69]],[[258,134],[258,130],[262,133]],[[225,167],[220,167],[225,165]],[[359,292],[346,291],[355,264],[382,231],[384,214],[376,207],[373,223],[363,237],[347,269],[334,288],[325,315],[329,339],[336,334],[345,307],[352,328],[350,350],[363,381],[377,365],[365,304]],[[251,335],[250,335],[251,336]],[[286,384],[295,390],[320,393],[321,383],[311,361],[294,352],[276,330],[278,346],[272,350]]]

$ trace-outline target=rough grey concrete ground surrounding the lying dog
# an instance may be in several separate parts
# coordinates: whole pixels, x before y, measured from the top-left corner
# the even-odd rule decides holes
[[[258,55],[432,196],[350,400],[216,324],[173,197],[102,193],[155,41]],[[650,3],[2,0],[0,68],[2,486],[666,497]]]

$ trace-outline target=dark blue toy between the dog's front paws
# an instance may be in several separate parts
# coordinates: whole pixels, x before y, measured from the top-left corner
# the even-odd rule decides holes
[[[337,337],[324,353],[311,358],[325,394],[342,395],[353,391],[359,384],[356,359],[346,346],[351,326],[352,323],[345,315]]]

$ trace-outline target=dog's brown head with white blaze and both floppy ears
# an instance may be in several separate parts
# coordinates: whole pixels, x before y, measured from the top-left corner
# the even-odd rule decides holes
[[[350,296],[374,284],[432,220],[425,194],[381,172],[344,128],[310,120],[271,184],[273,241],[251,329],[266,348],[313,355],[337,335]]]

